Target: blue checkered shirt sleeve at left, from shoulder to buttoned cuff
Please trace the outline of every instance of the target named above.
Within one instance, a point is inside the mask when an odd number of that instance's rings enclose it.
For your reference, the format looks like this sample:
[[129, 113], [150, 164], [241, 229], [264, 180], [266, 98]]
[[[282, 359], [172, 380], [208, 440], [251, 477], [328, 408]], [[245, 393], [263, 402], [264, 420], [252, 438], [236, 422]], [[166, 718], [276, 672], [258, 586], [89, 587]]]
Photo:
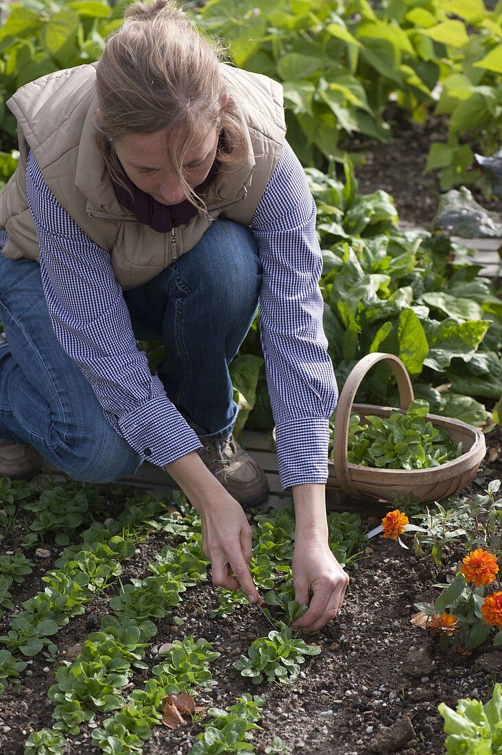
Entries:
[[29, 153], [29, 208], [54, 332], [82, 370], [112, 427], [147, 461], [165, 467], [202, 444], [137, 348], [109, 253], [77, 226]]

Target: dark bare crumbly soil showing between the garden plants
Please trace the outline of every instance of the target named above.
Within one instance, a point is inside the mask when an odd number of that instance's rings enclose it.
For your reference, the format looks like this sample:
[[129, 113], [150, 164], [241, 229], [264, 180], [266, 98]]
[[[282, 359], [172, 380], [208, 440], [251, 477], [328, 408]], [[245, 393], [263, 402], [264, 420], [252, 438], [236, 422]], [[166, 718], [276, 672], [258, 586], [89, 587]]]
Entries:
[[[439, 187], [433, 176], [423, 177], [423, 165], [432, 138], [442, 124], [424, 128], [402, 125], [400, 136], [388, 145], [369, 144], [368, 162], [356, 169], [359, 190], [371, 193], [377, 188], [395, 199], [402, 220], [429, 227], [436, 210]], [[444, 135], [444, 134], [443, 134]], [[357, 145], [353, 144], [352, 149]], [[502, 432], [499, 428], [486, 436], [488, 455], [468, 492], [482, 492], [491, 479], [502, 478]], [[497, 458], [495, 458], [497, 457]], [[115, 509], [117, 501], [114, 503]], [[380, 523], [385, 507], [376, 507], [373, 516], [362, 511], [368, 529]], [[109, 516], [114, 516], [111, 511]], [[153, 553], [167, 542], [166, 536], [137, 545], [137, 554], [123, 563], [123, 580], [146, 576], [146, 565]], [[2, 549], [13, 544], [5, 541]], [[14, 605], [42, 590], [43, 573], [51, 569], [60, 547], [47, 542], [51, 558], [38, 560], [38, 572], [14, 591]], [[32, 553], [28, 553], [35, 560]], [[445, 564], [443, 572], [454, 572], [457, 559]], [[365, 755], [365, 753], [406, 752], [408, 755], [444, 753], [445, 735], [439, 702], [454, 706], [462, 697], [476, 696], [487, 701], [494, 682], [500, 680], [502, 651], [489, 643], [464, 657], [439, 651], [435, 639], [411, 624], [417, 610], [414, 602], [433, 600], [437, 591], [437, 569], [430, 558], [417, 558], [396, 541], [377, 537], [368, 544], [365, 556], [347, 569], [350, 588], [337, 620], [307, 642], [317, 643], [322, 652], [307, 659], [295, 683], [279, 688], [266, 683], [254, 686], [233, 669], [233, 661], [257, 636], [269, 631], [263, 616], [252, 606], [224, 620], [207, 618], [208, 607], [216, 602], [210, 584], [183, 593], [174, 614], [183, 619], [180, 627], [172, 616], [159, 621], [156, 646], [191, 633], [215, 643], [220, 658], [211, 665], [217, 687], [202, 693], [197, 704], [224, 707], [244, 692], [265, 695], [262, 732], [254, 735], [257, 752], [263, 753], [273, 736], [280, 736], [291, 753], [318, 755]], [[498, 587], [497, 589], [500, 589]], [[109, 596], [108, 596], [109, 597]], [[107, 612], [108, 598], [101, 596], [72, 619], [57, 635], [59, 659], [72, 658], [101, 615]], [[0, 621], [0, 633], [8, 629], [8, 617]], [[146, 656], [150, 666], [158, 661]], [[51, 728], [51, 703], [48, 687], [54, 683], [54, 665], [36, 656], [21, 674], [21, 682], [9, 686], [0, 697], [0, 753], [21, 755], [23, 742], [32, 729]], [[142, 688], [148, 672], [136, 672], [132, 684]], [[131, 689], [131, 688], [130, 688]], [[97, 715], [97, 725], [102, 718]], [[153, 737], [144, 747], [146, 755], [181, 755], [190, 747], [190, 738], [200, 730], [199, 723], [181, 726], [171, 732], [154, 727]], [[91, 755], [91, 727], [82, 726], [81, 734], [69, 738], [65, 753]]]

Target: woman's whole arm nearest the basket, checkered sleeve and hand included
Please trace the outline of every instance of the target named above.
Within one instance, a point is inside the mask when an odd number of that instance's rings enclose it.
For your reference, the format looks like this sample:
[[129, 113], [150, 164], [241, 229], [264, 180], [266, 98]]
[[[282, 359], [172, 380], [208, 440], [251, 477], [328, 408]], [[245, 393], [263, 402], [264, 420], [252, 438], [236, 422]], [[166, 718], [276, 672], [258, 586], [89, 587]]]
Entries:
[[313, 631], [340, 610], [349, 578], [328, 545], [328, 418], [337, 386], [322, 328], [316, 208], [287, 143], [251, 227], [263, 262], [260, 335], [279, 474], [294, 498], [294, 587], [297, 600], [310, 604], [294, 626]]

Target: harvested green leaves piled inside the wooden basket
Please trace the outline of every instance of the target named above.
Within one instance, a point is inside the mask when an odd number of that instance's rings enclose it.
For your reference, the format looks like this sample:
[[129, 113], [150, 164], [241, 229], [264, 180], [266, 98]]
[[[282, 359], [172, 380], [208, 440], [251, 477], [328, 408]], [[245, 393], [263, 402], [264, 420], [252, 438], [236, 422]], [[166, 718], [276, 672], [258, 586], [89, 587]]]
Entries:
[[453, 461], [462, 444], [451, 440], [445, 427], [427, 420], [429, 404], [417, 399], [406, 414], [392, 411], [388, 418], [350, 414], [347, 461], [362, 467], [393, 470], [423, 470]]

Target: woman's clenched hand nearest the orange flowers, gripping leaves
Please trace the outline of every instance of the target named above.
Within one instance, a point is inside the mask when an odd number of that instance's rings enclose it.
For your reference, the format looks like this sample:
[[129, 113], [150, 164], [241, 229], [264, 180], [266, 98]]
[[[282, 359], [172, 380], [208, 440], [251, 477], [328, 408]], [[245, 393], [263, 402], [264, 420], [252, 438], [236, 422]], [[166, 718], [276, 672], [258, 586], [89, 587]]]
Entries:
[[295, 599], [309, 606], [309, 610], [294, 621], [292, 627], [308, 632], [322, 629], [340, 611], [349, 584], [349, 576], [331, 553], [327, 542], [297, 541], [293, 579]]

